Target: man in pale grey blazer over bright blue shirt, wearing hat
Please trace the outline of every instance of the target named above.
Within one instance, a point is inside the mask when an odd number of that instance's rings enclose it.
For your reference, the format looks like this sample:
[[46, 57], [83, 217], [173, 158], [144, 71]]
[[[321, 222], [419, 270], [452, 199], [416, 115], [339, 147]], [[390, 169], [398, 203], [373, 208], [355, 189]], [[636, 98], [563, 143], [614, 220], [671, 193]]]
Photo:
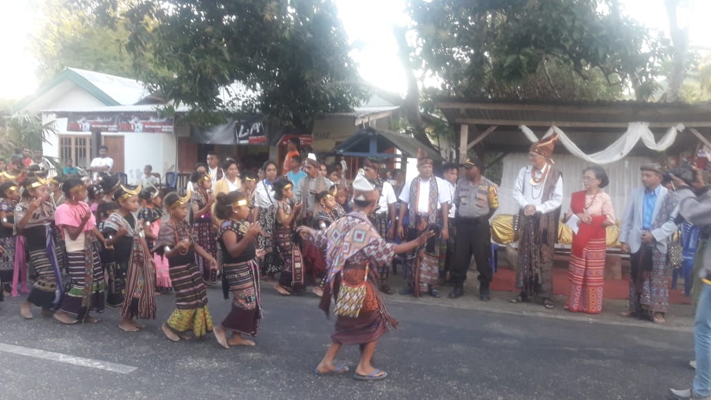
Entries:
[[630, 253], [631, 270], [629, 310], [622, 315], [664, 323], [669, 303], [667, 243], [677, 229], [678, 201], [675, 192], [661, 185], [658, 163], [640, 170], [642, 188], [630, 193], [620, 227], [621, 250]]

